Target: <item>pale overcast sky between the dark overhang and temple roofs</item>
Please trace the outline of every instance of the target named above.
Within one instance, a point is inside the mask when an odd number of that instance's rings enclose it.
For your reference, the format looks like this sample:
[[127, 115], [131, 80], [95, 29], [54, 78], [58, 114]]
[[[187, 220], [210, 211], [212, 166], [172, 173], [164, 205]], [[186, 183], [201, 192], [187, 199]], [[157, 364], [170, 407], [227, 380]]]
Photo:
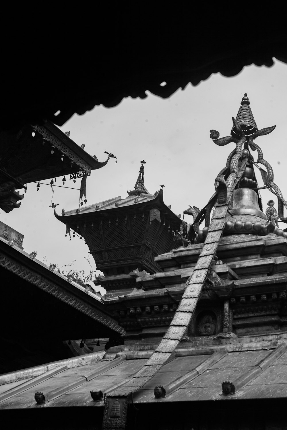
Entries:
[[[117, 164], [110, 159], [107, 166], [87, 178], [87, 205], [127, 197], [144, 159], [145, 186], [150, 193], [165, 184], [164, 202], [172, 205], [173, 212], [183, 214], [188, 205], [201, 209], [214, 193], [214, 180], [235, 146], [218, 147], [209, 137], [210, 129], [218, 130], [220, 137], [230, 135], [231, 117], [236, 117], [244, 92], [259, 129], [277, 124], [274, 132], [259, 137], [256, 143], [272, 165], [274, 181], [286, 199], [286, 73], [287, 65], [279, 61], [272, 68], [249, 66], [235, 77], [215, 74], [196, 87], [188, 85], [169, 99], [147, 92], [143, 100], [127, 98], [113, 108], [97, 106], [84, 115], [74, 115], [60, 127], [62, 131], [70, 130], [71, 139], [86, 144], [85, 151], [96, 154], [99, 161], [106, 160], [105, 150], [117, 156]], [[259, 171], [255, 173], [262, 184]], [[62, 185], [61, 179], [57, 178], [56, 184]], [[68, 176], [66, 179], [66, 186], [80, 187], [80, 179], [76, 184]], [[37, 251], [39, 260], [46, 256], [59, 267], [76, 260], [72, 268], [88, 272], [84, 259], [88, 247], [77, 237], [71, 242], [65, 237], [65, 224], [57, 221], [49, 208], [51, 197], [50, 187], [42, 185], [37, 191], [36, 184], [28, 184], [21, 207], [9, 214], [1, 211], [0, 220], [24, 234], [25, 251]], [[263, 190], [264, 207], [270, 198], [272, 194]], [[74, 209], [79, 205], [79, 191], [55, 187], [53, 202], [59, 203], [58, 213], [62, 208]], [[186, 215], [185, 221], [192, 218]], [[92, 258], [90, 261], [93, 264]]]

